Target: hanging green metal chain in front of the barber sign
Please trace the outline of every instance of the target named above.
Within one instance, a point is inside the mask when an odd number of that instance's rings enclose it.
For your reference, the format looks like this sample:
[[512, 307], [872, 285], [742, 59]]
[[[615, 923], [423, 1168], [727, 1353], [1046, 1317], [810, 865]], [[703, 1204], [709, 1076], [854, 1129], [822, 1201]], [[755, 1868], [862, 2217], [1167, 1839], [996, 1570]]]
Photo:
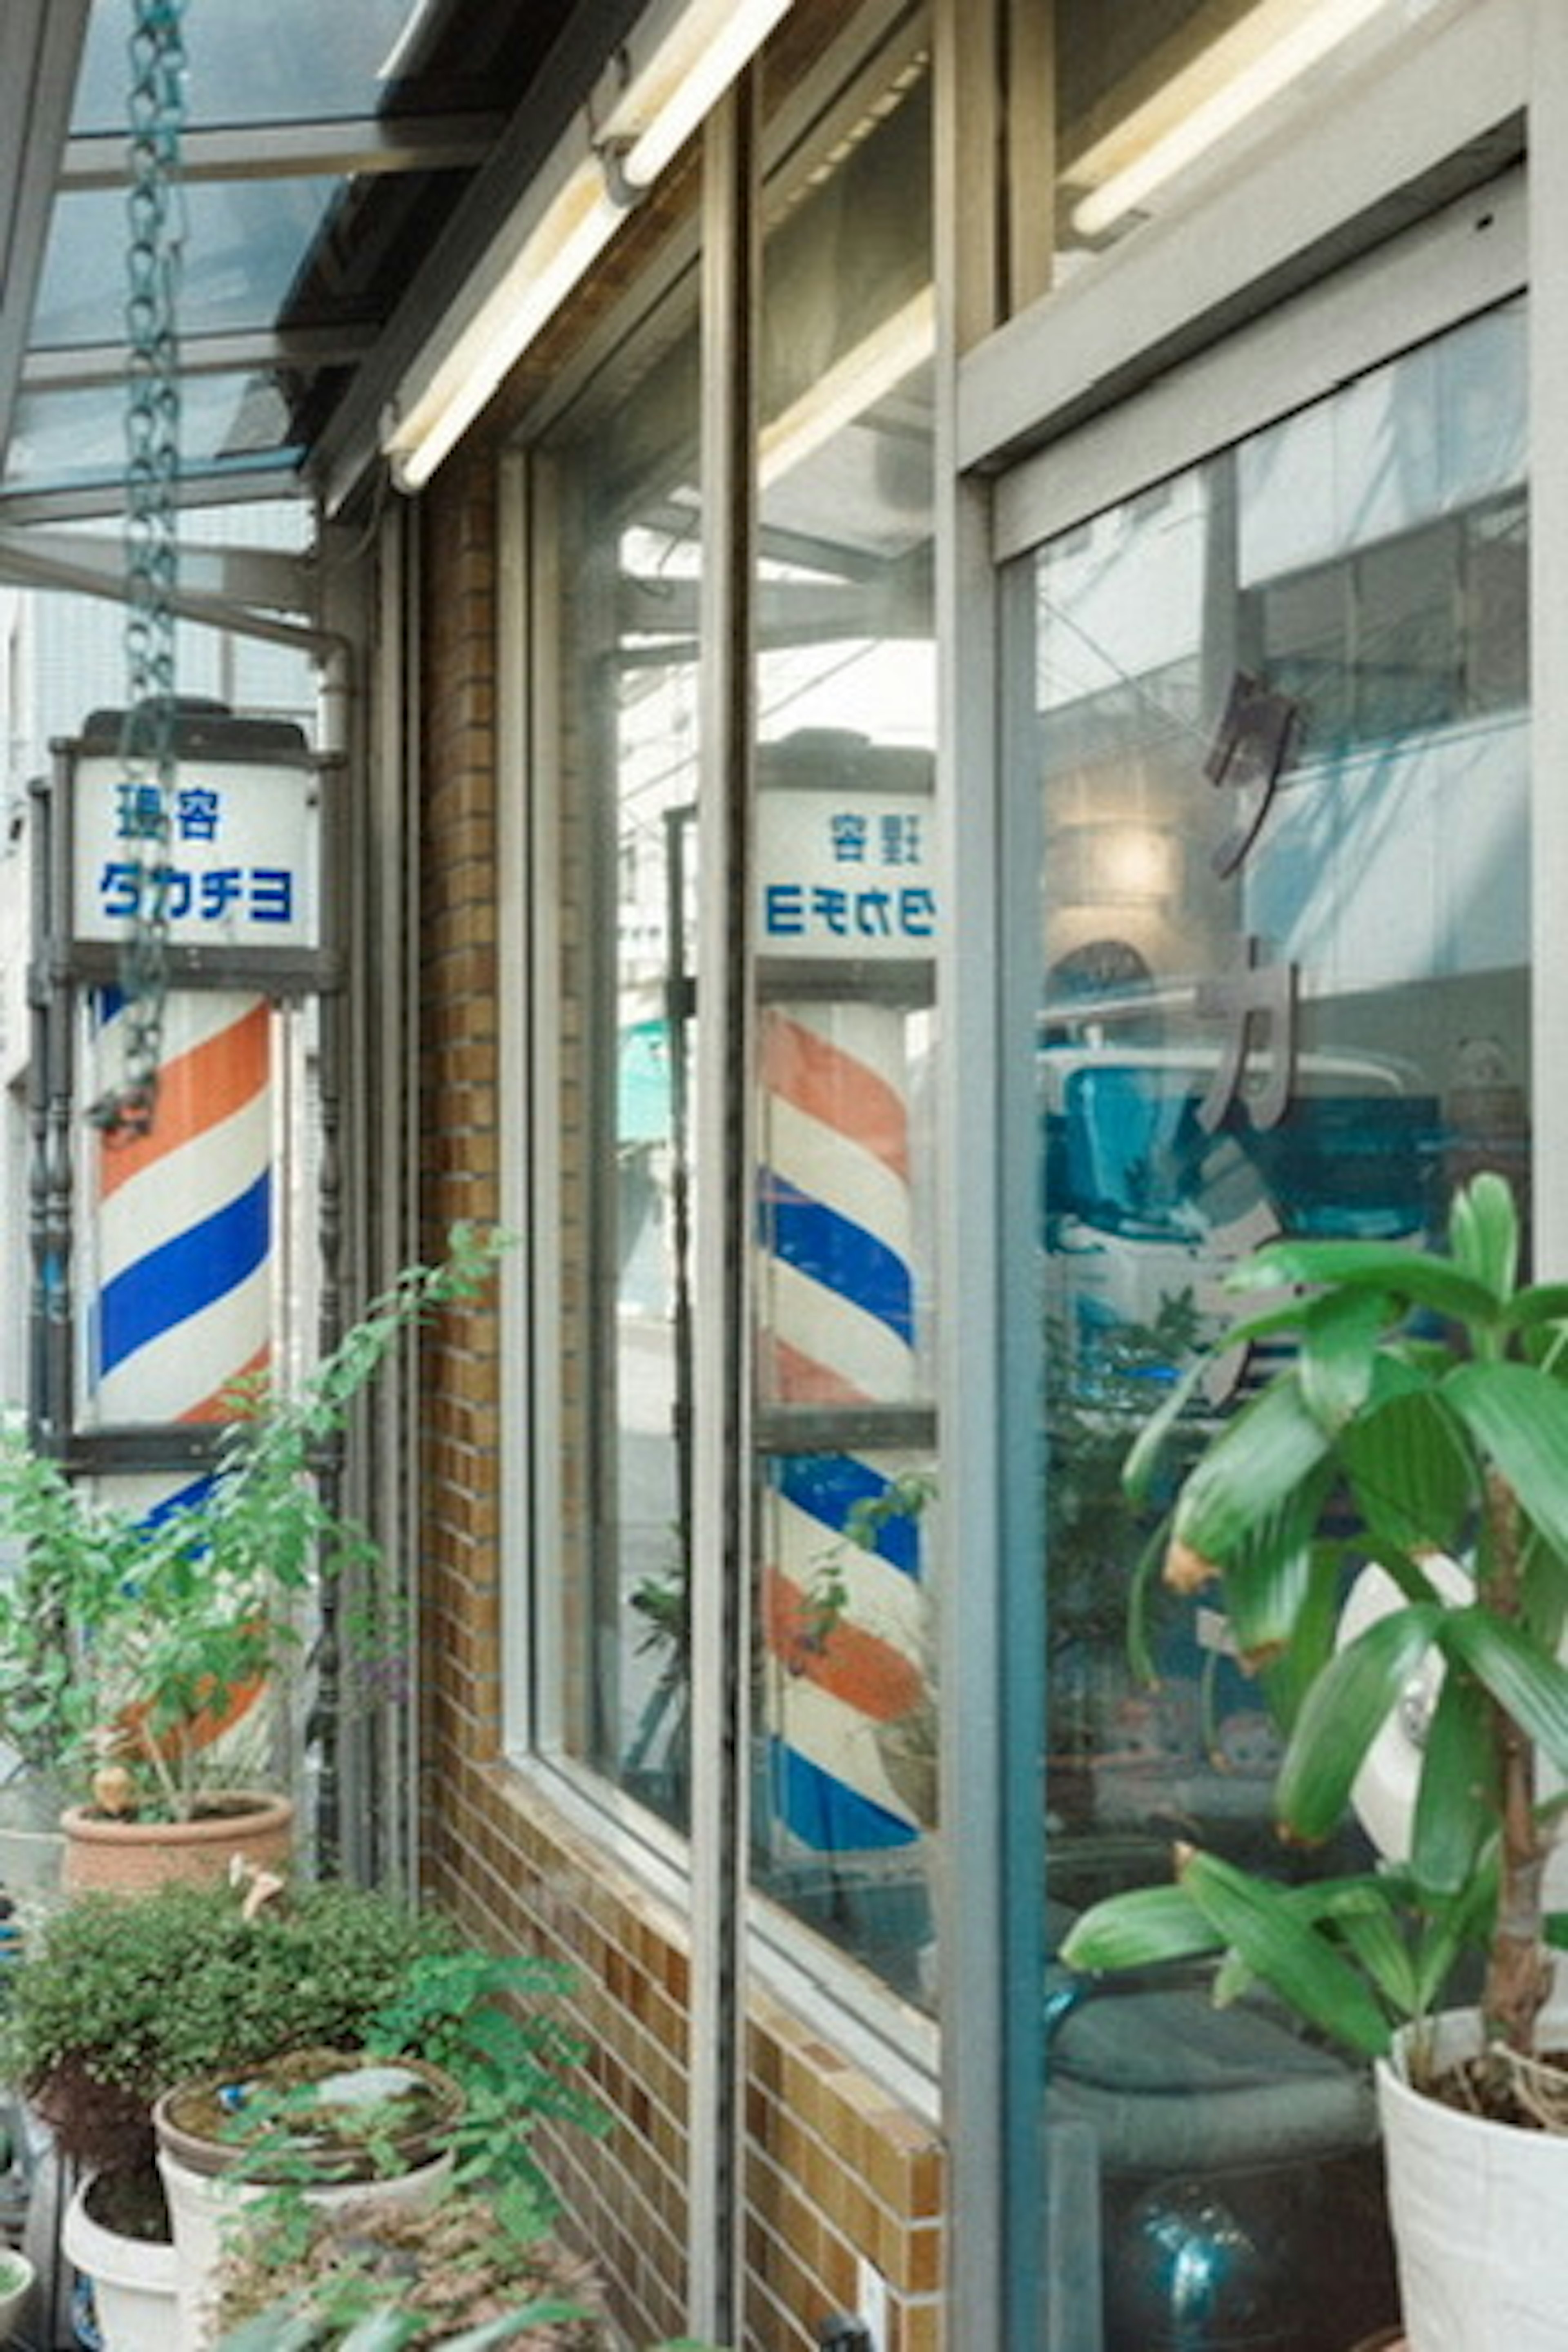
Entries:
[[132, 0], [129, 35], [129, 346], [125, 416], [125, 724], [120, 835], [136, 849], [139, 889], [120, 950], [122, 1077], [89, 1110], [110, 1136], [153, 1124], [169, 981], [169, 835], [174, 811], [179, 586], [179, 278], [183, 259], [181, 132], [186, 0]]

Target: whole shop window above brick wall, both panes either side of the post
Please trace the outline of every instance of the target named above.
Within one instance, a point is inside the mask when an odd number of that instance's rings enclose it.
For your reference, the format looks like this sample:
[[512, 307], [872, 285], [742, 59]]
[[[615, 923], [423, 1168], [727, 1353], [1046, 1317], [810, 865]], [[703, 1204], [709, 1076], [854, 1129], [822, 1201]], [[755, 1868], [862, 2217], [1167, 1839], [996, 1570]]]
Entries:
[[[755, 1103], [696, 1101], [696, 270], [545, 440], [552, 816], [536, 908], [555, 1428], [541, 1510], [564, 1755], [689, 1818], [693, 1235], [755, 1247], [752, 1875], [933, 1990], [938, 882], [929, 64], [823, 99], [762, 191]], [[825, 92], [830, 78], [823, 75]], [[715, 887], [712, 877], [703, 877]], [[717, 1138], [757, 1160], [698, 1200]]]

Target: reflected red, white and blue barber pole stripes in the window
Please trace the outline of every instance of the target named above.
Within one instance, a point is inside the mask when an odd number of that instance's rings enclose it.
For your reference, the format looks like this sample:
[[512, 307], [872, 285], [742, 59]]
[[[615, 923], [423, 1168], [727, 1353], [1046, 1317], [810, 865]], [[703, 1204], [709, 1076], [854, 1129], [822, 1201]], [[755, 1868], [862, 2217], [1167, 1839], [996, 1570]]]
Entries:
[[[771, 1007], [762, 1080], [762, 1399], [912, 1402], [905, 1016], [858, 1002]], [[919, 1835], [877, 1738], [922, 1700], [919, 1519], [905, 1510], [877, 1519], [907, 1468], [903, 1456], [863, 1451], [769, 1463], [773, 1806], [818, 1851]]]

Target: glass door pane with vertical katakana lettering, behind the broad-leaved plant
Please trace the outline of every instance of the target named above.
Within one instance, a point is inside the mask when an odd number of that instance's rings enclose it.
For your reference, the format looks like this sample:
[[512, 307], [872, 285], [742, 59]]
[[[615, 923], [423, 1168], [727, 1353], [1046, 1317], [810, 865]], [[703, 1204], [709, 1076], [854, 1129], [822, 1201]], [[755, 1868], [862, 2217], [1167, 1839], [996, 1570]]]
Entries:
[[[1276, 1844], [1265, 1693], [1213, 1595], [1133, 1616], [1152, 1524], [1119, 1472], [1267, 1235], [1434, 1235], [1479, 1167], [1528, 1207], [1526, 529], [1512, 303], [1013, 581], [1058, 1929], [1164, 1879], [1173, 1839], [1281, 1875], [1399, 1842], [1389, 1752], [1342, 1846]], [[1220, 1362], [1192, 1442], [1267, 1369], [1265, 1348]], [[1284, 2314], [1305, 2279], [1314, 2343], [1387, 2319], [1366, 2084], [1206, 1990], [1086, 1990], [1053, 1978], [1048, 2122], [1058, 2161], [1077, 2150], [1100, 2180], [1107, 2352], [1175, 2340], [1182, 2265], [1220, 2281], [1220, 2333], [1244, 2314], [1248, 2340], [1302, 2340]]]

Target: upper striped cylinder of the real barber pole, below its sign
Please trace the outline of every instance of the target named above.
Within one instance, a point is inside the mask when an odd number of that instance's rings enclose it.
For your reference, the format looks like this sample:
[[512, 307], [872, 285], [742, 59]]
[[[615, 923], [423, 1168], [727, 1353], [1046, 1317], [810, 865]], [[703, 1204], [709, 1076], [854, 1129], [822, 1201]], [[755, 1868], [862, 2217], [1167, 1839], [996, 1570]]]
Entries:
[[[99, 1037], [113, 1051], [113, 1011]], [[167, 1000], [150, 1134], [99, 1148], [89, 1414], [221, 1421], [273, 1338], [273, 1077], [263, 997]]]

